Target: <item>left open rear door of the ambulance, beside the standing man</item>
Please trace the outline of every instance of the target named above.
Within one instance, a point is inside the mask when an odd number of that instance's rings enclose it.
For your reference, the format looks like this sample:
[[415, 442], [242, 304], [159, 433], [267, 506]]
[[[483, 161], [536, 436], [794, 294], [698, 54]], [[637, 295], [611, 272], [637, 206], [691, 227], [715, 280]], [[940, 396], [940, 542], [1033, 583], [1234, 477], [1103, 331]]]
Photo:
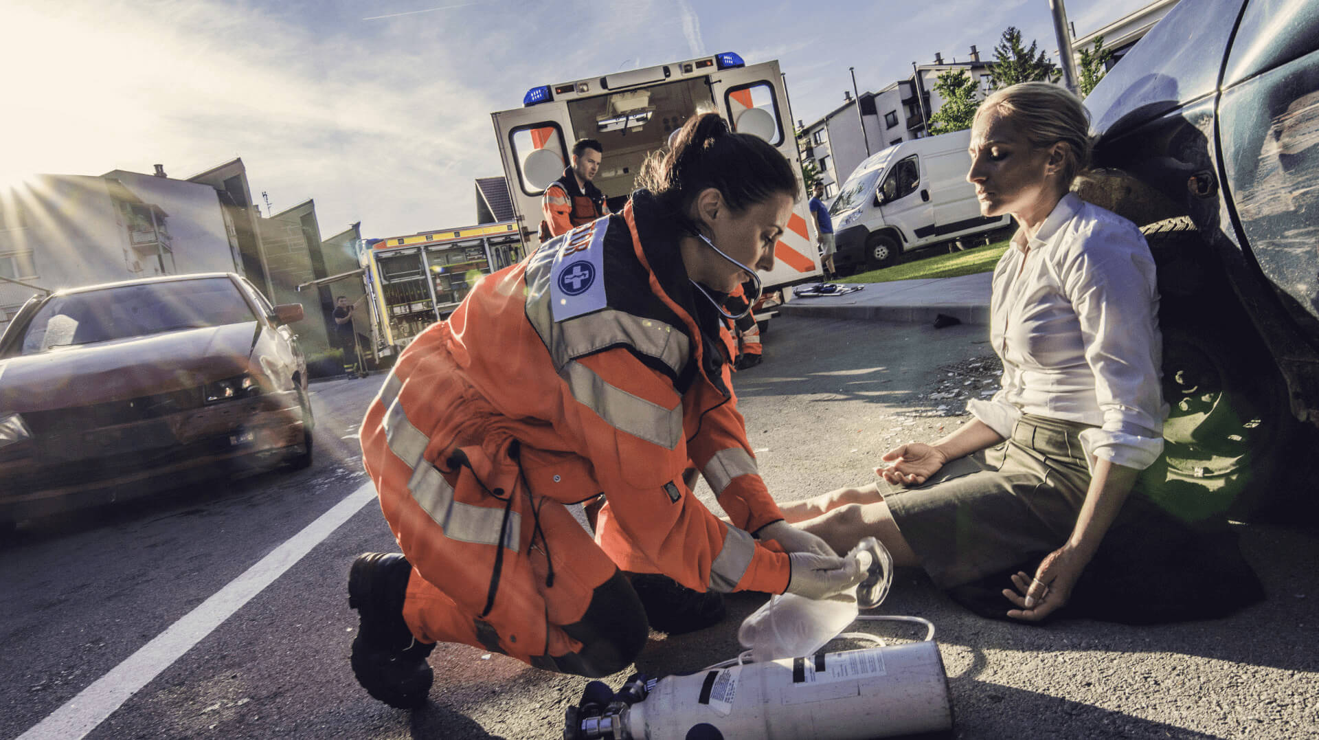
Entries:
[[538, 103], [491, 113], [513, 215], [526, 253], [539, 248], [541, 195], [568, 166], [572, 124], [563, 102]]

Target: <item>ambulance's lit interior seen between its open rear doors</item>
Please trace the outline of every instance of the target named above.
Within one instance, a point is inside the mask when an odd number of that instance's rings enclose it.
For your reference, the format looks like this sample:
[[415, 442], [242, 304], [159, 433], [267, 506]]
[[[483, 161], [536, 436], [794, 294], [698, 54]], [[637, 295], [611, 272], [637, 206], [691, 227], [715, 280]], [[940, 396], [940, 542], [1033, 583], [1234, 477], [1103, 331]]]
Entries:
[[637, 173], [650, 152], [666, 146], [669, 135], [698, 111], [714, 109], [704, 78], [568, 102], [572, 131], [604, 146], [595, 186], [611, 199], [611, 207], [615, 198], [621, 200], [636, 190]]

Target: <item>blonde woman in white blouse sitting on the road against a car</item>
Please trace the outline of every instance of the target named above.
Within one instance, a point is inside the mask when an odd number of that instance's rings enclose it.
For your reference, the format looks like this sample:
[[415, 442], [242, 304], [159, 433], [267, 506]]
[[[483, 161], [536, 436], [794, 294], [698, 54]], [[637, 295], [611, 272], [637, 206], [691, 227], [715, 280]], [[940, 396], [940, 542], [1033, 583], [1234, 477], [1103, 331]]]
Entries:
[[[1053, 84], [985, 99], [967, 179], [981, 214], [1020, 226], [993, 274], [1002, 388], [936, 443], [885, 454], [878, 484], [783, 507], [835, 547], [876, 536], [942, 588], [1001, 574], [995, 613], [1021, 620], [1068, 601], [1163, 447], [1154, 261], [1136, 226], [1068, 193], [1087, 132], [1080, 100]], [[950, 464], [991, 447], [988, 464]]]

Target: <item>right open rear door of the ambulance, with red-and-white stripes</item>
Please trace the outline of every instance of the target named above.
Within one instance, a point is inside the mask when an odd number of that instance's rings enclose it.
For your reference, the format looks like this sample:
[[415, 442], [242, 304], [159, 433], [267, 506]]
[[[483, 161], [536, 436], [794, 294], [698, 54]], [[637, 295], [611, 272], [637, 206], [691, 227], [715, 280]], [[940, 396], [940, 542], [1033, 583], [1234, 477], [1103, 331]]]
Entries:
[[[793, 165], [797, 183], [802, 182], [802, 161], [793, 135], [793, 112], [787, 107], [783, 78], [778, 62], [720, 70], [710, 77], [710, 91], [719, 112], [737, 133], [751, 133], [769, 141]], [[815, 224], [811, 219], [810, 194], [803, 193], [793, 207], [782, 239], [774, 247], [774, 269], [761, 273], [765, 292], [807, 282], [823, 274]]]

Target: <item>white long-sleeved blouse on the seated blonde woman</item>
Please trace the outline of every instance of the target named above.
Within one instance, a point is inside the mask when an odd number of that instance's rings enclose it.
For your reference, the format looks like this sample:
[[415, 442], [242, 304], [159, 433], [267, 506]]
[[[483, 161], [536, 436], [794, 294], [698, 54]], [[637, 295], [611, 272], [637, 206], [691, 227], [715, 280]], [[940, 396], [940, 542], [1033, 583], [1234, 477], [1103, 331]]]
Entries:
[[1018, 231], [993, 273], [989, 336], [1002, 388], [972, 401], [1004, 438], [1024, 414], [1096, 426], [1093, 458], [1137, 470], [1163, 451], [1154, 259], [1136, 226], [1068, 193], [1033, 239]]

